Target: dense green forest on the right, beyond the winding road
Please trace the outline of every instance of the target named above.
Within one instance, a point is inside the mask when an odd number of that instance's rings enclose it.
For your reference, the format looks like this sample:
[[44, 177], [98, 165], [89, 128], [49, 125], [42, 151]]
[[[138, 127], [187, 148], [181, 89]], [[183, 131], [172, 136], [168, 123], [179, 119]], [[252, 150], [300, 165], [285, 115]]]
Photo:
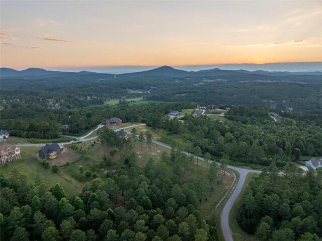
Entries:
[[[181, 148], [197, 147], [202, 153], [209, 152], [219, 158], [225, 156], [234, 165], [269, 166], [274, 162], [282, 167], [301, 155], [322, 154], [320, 119], [304, 122], [285, 118], [275, 123], [267, 110], [244, 106], [232, 107], [227, 118], [230, 121], [220, 122], [207, 116], [188, 115], [182, 118], [182, 123], [177, 118], [170, 120], [155, 115], [147, 125], [163, 129], [174, 138], [180, 136], [184, 143], [179, 144]], [[165, 137], [163, 141], [168, 139]], [[173, 141], [168, 143], [174, 144]]]

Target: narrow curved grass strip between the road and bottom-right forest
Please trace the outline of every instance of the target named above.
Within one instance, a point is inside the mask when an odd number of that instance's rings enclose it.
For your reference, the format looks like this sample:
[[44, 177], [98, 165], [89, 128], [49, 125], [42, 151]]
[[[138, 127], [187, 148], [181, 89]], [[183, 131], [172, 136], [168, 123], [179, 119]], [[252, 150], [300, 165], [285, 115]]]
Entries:
[[238, 196], [236, 202], [232, 206], [230, 213], [229, 213], [229, 226], [232, 232], [233, 240], [240, 240], [240, 241], [252, 241], [256, 240], [255, 235], [249, 234], [241, 229], [237, 223], [237, 213], [238, 208], [243, 203], [243, 193], [245, 192], [245, 187], [248, 186], [250, 181], [257, 176], [258, 174], [250, 173], [247, 178], [243, 190], [241, 190], [240, 195]]

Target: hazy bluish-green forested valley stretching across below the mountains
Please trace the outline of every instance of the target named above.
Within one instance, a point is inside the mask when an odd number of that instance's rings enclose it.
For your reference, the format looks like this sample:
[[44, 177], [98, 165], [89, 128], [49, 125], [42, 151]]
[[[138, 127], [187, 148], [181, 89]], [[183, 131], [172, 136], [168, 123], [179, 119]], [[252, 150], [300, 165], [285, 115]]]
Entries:
[[[140, 97], [147, 100], [196, 102], [277, 107], [285, 110], [321, 110], [321, 75], [249, 74], [241, 71], [214, 70], [200, 74], [51, 74], [2, 77], [0, 105], [49, 107], [68, 110], [104, 101]], [[180, 71], [180, 70], [178, 70]], [[201, 72], [200, 72], [201, 73]], [[19, 100], [19, 101], [18, 101]]]

